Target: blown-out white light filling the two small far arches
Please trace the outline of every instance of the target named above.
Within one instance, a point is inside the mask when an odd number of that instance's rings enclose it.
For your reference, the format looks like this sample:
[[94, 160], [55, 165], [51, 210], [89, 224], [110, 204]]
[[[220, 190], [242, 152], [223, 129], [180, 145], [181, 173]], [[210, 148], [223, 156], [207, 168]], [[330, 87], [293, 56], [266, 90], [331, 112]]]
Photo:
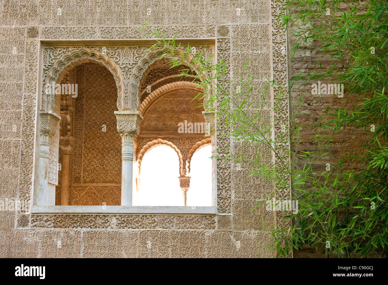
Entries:
[[[194, 153], [191, 159], [187, 206], [211, 206], [211, 146]], [[133, 191], [134, 206], [183, 206], [179, 186], [178, 155], [171, 147], [159, 145], [142, 159], [140, 189]]]

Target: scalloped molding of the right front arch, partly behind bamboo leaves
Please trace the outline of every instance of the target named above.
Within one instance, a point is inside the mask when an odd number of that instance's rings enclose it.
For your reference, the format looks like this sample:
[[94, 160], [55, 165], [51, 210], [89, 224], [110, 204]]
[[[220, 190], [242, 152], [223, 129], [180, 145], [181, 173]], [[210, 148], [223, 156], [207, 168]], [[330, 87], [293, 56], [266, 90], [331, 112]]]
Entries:
[[[132, 75], [130, 76], [130, 90], [133, 90], [132, 94], [132, 106], [133, 109], [137, 109], [139, 107], [139, 101], [140, 101], [140, 88], [141, 88], [141, 82], [143, 81], [143, 78], [149, 73], [149, 71], [152, 69], [153, 66], [156, 64], [165, 64], [170, 61], [170, 59], [178, 59], [180, 55], [183, 54], [182, 50], [176, 49], [176, 55], [169, 55], [168, 57], [164, 57], [163, 59], [160, 59], [162, 54], [162, 50], [153, 50], [146, 54], [144, 57], [142, 57], [138, 64], [133, 68]], [[192, 57], [188, 56], [185, 62], [187, 64], [192, 64], [191, 62]], [[185, 63], [184, 62], [184, 63]], [[186, 65], [187, 65], [186, 64]], [[151, 67], [151, 68], [150, 68]], [[196, 73], [198, 71], [196, 70]], [[124, 106], [126, 107], [126, 106]]]

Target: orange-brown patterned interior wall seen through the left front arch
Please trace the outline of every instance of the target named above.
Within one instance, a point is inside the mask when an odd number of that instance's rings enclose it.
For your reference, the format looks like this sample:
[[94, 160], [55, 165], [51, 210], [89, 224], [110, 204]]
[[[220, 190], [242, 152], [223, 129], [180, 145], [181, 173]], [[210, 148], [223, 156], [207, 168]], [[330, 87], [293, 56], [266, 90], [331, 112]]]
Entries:
[[[117, 206], [121, 202], [121, 138], [113, 113], [116, 84], [111, 73], [99, 64], [77, 66], [76, 74], [75, 167], [69, 205]], [[61, 205], [59, 199], [56, 204]]]

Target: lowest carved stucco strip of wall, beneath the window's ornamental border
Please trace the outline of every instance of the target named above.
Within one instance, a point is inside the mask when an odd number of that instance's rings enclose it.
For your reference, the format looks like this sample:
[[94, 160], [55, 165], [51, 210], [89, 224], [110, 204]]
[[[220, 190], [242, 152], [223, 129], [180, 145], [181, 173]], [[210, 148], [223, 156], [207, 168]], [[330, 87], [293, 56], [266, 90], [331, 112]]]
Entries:
[[[10, 238], [7, 235], [6, 238]], [[265, 234], [206, 230], [14, 230], [10, 257], [271, 257], [258, 247]], [[58, 247], [58, 242], [61, 247]], [[41, 247], [40, 244], [45, 246]], [[38, 250], [39, 249], [39, 250]]]

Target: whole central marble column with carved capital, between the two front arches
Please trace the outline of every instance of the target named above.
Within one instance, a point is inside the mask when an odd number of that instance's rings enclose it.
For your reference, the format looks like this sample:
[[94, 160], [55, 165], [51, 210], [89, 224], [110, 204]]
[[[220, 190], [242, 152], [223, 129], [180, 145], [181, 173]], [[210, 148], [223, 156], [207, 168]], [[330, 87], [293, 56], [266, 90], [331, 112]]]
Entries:
[[143, 116], [138, 111], [115, 111], [121, 135], [121, 206], [132, 206], [133, 143]]

